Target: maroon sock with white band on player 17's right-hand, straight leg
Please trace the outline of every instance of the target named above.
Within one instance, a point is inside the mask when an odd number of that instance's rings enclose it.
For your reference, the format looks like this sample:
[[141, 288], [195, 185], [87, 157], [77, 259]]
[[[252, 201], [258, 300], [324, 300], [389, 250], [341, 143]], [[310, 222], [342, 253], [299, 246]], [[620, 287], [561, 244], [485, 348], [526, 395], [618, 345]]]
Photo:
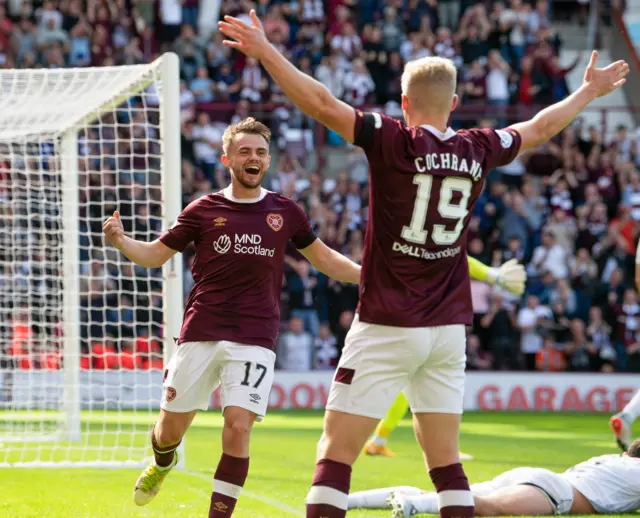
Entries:
[[209, 518], [231, 516], [249, 473], [249, 457], [222, 454], [213, 479]]

